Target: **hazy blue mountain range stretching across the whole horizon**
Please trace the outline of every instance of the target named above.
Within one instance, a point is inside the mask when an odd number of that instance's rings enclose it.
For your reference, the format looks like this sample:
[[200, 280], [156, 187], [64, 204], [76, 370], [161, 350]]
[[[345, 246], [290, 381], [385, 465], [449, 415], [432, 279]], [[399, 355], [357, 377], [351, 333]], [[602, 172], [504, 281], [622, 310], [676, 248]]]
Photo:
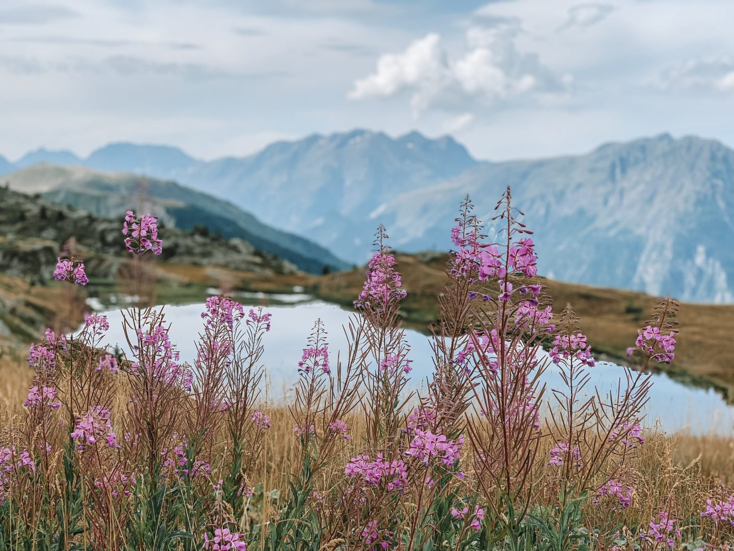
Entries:
[[446, 250], [462, 198], [489, 220], [510, 185], [544, 275], [734, 302], [734, 151], [715, 140], [661, 134], [582, 155], [481, 162], [448, 136], [355, 130], [213, 161], [126, 143], [69, 155], [34, 151], [4, 170], [46, 160], [175, 180], [349, 262], [368, 258], [379, 223], [394, 248]]

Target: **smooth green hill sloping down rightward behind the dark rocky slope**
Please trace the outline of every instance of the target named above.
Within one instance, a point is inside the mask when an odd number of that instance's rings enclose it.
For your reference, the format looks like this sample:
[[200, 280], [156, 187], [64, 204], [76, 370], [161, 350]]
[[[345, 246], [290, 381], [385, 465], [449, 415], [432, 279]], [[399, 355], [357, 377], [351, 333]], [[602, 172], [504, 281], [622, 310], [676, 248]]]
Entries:
[[[154, 212], [164, 223], [181, 229], [208, 226], [222, 237], [241, 237], [259, 251], [293, 262], [301, 270], [321, 273], [324, 266], [340, 270], [346, 264], [326, 249], [293, 234], [261, 223], [227, 201], [183, 187], [174, 181], [146, 178], [127, 173], [103, 173], [84, 167], [48, 164], [7, 174], [0, 179], [12, 190], [38, 193], [61, 204], [94, 215], [117, 217], [127, 209]], [[142, 206], [141, 206], [142, 201]]]

